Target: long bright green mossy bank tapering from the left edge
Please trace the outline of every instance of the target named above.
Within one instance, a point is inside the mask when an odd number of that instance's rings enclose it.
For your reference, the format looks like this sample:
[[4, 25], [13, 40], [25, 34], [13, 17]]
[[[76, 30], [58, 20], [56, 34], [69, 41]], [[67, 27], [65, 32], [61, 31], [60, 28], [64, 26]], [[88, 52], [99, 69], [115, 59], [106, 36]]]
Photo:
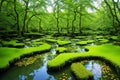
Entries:
[[19, 59], [23, 55], [29, 55], [34, 52], [42, 52], [49, 50], [51, 45], [43, 44], [39, 47], [30, 47], [30, 48], [8, 48], [0, 47], [0, 69], [6, 68], [9, 66], [9, 62]]

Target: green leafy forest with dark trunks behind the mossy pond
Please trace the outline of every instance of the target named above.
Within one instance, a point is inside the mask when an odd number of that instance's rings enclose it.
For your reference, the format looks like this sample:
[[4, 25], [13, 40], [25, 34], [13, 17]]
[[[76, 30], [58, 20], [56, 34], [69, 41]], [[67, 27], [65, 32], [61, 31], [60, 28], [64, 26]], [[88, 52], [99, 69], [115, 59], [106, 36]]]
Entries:
[[120, 1], [1, 0], [0, 32], [119, 35]]

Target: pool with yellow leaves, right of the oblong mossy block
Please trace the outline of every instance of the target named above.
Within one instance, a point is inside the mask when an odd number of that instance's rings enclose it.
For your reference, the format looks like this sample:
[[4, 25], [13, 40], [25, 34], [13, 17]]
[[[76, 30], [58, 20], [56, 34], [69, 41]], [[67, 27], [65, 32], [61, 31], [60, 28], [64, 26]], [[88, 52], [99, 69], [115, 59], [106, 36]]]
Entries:
[[92, 72], [92, 74], [94, 75], [94, 80], [101, 80], [101, 79], [111, 80], [111, 78], [114, 78], [115, 80], [119, 80], [116, 73], [114, 73], [114, 71], [112, 71], [112, 69], [105, 63], [91, 60], [91, 61], [83, 61], [83, 64], [90, 72]]

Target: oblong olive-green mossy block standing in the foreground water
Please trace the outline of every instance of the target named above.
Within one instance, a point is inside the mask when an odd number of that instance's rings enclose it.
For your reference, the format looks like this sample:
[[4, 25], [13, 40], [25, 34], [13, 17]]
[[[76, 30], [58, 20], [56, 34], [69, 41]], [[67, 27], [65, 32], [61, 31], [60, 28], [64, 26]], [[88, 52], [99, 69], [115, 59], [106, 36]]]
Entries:
[[89, 80], [93, 78], [93, 74], [81, 63], [73, 63], [71, 65], [71, 70], [78, 80]]

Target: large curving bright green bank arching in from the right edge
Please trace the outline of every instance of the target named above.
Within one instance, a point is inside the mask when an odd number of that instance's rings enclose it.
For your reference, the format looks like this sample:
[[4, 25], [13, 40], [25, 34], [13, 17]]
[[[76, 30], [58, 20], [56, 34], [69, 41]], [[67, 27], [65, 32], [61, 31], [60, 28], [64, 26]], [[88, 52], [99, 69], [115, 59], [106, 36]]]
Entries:
[[47, 63], [48, 68], [59, 68], [64, 66], [68, 61], [74, 60], [81, 57], [104, 57], [111, 61], [113, 64], [120, 67], [120, 46], [112, 44], [103, 44], [99, 46], [86, 46], [89, 49], [88, 52], [83, 53], [62, 53], [50, 60]]

